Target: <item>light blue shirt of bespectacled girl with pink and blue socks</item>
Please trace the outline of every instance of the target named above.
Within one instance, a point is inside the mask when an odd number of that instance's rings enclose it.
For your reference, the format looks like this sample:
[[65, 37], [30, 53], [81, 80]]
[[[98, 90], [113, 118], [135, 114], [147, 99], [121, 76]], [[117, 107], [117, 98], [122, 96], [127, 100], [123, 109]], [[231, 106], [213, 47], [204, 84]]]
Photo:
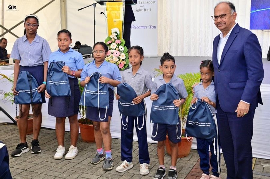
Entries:
[[[95, 60], [86, 64], [81, 73], [81, 81], [84, 81], [86, 77], [90, 77], [96, 71], [101, 73], [103, 77], [121, 82], [122, 78], [118, 67], [113, 63], [107, 62], [106, 60], [104, 60], [99, 67], [96, 66]], [[114, 90], [114, 86], [110, 85], [109, 83], [107, 83], [107, 87]]]

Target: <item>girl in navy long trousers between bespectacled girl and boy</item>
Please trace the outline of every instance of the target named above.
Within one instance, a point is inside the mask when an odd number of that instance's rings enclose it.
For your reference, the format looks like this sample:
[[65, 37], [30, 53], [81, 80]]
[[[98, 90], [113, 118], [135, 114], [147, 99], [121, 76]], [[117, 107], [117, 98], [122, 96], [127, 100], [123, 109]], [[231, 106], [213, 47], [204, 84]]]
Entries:
[[[128, 83], [137, 97], [133, 99], [134, 104], [139, 104], [144, 98], [151, 95], [153, 86], [151, 74], [143, 69], [143, 48], [140, 46], [133, 46], [128, 50], [129, 62], [132, 68], [125, 70], [122, 77], [122, 82]], [[116, 94], [116, 100], [120, 96]], [[125, 116], [122, 114], [122, 118]], [[122, 164], [116, 167], [117, 172], [125, 172], [133, 167], [132, 164], [132, 142], [133, 142], [133, 128], [135, 124], [138, 143], [139, 143], [139, 161], [140, 161], [140, 175], [147, 175], [149, 173], [149, 152], [147, 144], [146, 133], [146, 118], [145, 116], [132, 117], [127, 116], [127, 123], [123, 124], [121, 120], [121, 159]], [[124, 129], [124, 126], [126, 129]], [[143, 126], [143, 128], [141, 128]]]

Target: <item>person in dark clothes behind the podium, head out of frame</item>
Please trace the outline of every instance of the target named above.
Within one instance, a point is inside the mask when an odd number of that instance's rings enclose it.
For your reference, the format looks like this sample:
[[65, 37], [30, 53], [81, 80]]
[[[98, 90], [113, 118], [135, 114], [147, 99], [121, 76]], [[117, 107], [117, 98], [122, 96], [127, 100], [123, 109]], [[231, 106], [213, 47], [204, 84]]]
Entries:
[[[133, 0], [133, 2], [137, 4], [137, 0]], [[131, 23], [133, 21], [135, 21], [135, 16], [134, 16], [132, 7], [131, 5], [125, 5], [123, 39], [126, 41], [125, 46], [127, 46], [128, 49], [130, 48], [130, 31], [131, 31]]]

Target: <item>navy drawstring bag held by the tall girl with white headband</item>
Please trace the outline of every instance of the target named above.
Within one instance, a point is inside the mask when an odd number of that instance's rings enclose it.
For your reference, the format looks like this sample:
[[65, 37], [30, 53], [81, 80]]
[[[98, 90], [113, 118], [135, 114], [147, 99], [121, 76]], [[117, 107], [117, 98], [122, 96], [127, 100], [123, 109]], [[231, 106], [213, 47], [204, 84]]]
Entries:
[[41, 103], [41, 94], [38, 93], [38, 82], [28, 71], [21, 71], [17, 79], [15, 104], [35, 104]]

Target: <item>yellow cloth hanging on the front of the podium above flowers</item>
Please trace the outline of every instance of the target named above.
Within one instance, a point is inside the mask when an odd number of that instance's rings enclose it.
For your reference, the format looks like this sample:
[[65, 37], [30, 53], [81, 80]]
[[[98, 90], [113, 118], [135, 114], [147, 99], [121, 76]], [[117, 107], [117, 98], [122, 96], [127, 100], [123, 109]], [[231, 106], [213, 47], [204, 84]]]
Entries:
[[[105, 4], [105, 3], [104, 3]], [[123, 2], [106, 2], [108, 35], [111, 29], [117, 27], [120, 31], [120, 39], [123, 38]]]

